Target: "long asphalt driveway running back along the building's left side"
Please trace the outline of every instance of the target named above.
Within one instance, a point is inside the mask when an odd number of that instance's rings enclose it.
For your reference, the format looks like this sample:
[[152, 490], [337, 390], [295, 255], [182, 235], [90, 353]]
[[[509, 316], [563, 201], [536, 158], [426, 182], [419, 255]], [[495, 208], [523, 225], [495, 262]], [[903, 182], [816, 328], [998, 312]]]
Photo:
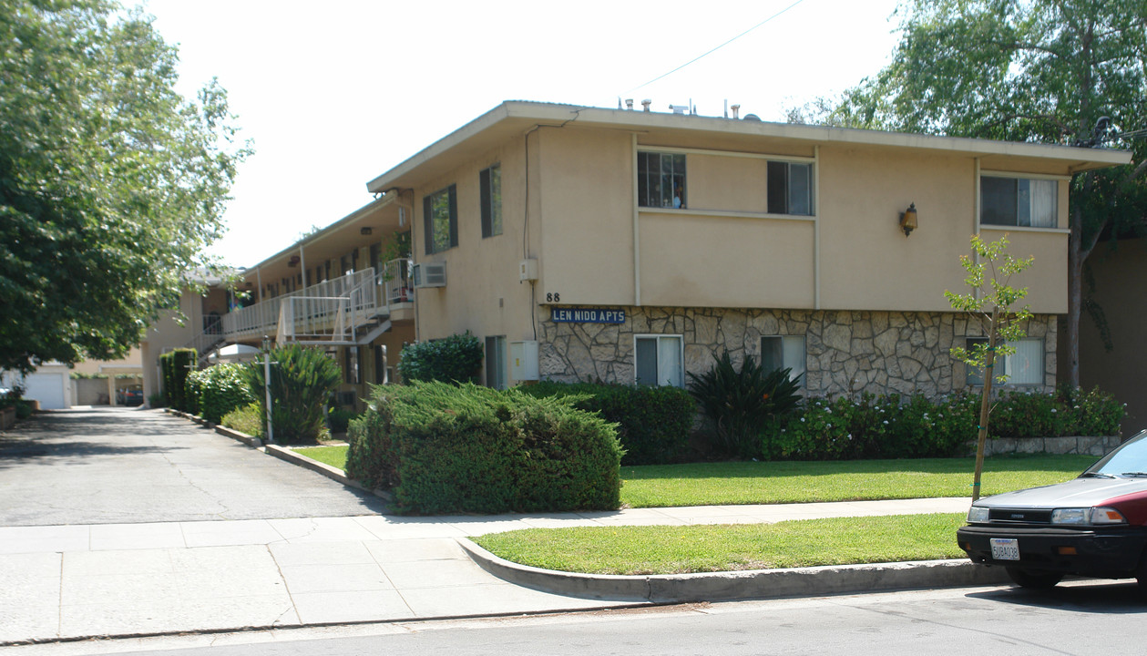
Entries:
[[155, 409], [38, 414], [0, 434], [0, 525], [338, 517], [381, 499]]

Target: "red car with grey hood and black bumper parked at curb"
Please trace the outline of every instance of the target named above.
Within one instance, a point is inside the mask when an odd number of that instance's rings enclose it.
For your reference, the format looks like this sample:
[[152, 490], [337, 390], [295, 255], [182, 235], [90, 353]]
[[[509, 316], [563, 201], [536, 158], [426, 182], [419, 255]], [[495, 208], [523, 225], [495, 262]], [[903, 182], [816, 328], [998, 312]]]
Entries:
[[957, 540], [1023, 587], [1070, 573], [1137, 578], [1147, 594], [1147, 431], [1067, 483], [980, 499]]

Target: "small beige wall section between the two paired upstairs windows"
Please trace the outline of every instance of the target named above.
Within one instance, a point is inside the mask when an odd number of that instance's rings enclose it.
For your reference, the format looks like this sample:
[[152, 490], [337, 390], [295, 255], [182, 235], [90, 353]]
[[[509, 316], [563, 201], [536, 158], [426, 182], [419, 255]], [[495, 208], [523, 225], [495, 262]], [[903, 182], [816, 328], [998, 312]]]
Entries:
[[750, 157], [689, 155], [686, 204], [690, 210], [765, 213], [767, 162]]

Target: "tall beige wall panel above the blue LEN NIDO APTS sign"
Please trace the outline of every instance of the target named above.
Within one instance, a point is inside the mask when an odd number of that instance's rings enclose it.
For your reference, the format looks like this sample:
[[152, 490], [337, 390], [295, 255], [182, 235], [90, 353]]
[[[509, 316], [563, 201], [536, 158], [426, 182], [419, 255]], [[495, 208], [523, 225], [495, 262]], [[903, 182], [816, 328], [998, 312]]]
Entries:
[[632, 304], [630, 135], [571, 128], [543, 130], [539, 134], [539, 302], [547, 294], [560, 294], [562, 304]]

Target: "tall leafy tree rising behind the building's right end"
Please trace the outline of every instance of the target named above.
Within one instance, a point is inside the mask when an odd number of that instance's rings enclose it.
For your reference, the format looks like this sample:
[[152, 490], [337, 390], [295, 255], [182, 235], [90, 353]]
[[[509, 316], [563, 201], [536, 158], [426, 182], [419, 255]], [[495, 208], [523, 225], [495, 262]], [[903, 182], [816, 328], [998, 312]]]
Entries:
[[791, 120], [1133, 149], [1131, 165], [1071, 182], [1064, 364], [1078, 385], [1080, 311], [1098, 313], [1084, 261], [1147, 217], [1147, 0], [906, 0], [897, 13], [892, 62]]

